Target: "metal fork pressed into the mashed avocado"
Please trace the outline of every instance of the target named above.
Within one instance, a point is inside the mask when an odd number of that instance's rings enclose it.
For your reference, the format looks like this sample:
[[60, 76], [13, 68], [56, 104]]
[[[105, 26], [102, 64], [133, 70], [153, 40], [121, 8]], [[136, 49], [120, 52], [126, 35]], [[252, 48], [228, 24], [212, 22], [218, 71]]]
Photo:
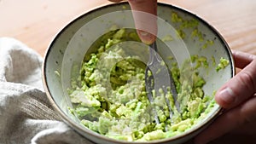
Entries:
[[[164, 94], [167, 93], [168, 89], [171, 89], [174, 102], [177, 101], [177, 90], [172, 78], [172, 73], [166, 66], [164, 60], [158, 55], [156, 42], [149, 45], [149, 60], [145, 71], [145, 85], [150, 103], [154, 102], [152, 90], [155, 91], [156, 96], [160, 96], [159, 89], [162, 89]], [[170, 119], [172, 119], [172, 107], [170, 101], [166, 98], [166, 105], [169, 108]], [[177, 104], [176, 104], [177, 105]], [[176, 106], [178, 109], [178, 106]], [[160, 124], [157, 112], [154, 109], [154, 120], [156, 124]]]

